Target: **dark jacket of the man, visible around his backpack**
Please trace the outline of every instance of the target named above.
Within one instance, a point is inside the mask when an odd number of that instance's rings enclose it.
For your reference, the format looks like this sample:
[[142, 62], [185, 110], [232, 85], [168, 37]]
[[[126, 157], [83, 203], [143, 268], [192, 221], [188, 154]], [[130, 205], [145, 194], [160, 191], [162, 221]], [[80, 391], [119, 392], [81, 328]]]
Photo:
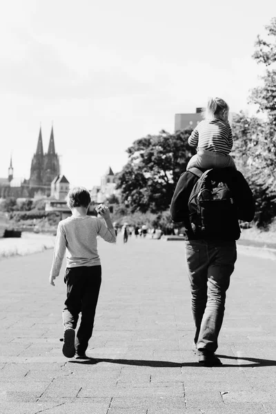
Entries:
[[[253, 200], [253, 194], [250, 190], [248, 183], [242, 172], [235, 170], [234, 168], [219, 168], [213, 170], [213, 172], [219, 176], [219, 179], [225, 182], [233, 193], [233, 198], [237, 206], [237, 226], [231, 229], [231, 232], [225, 234], [224, 240], [237, 240], [240, 236], [239, 220], [252, 221], [255, 215], [255, 202]], [[195, 237], [193, 230], [190, 226], [188, 199], [190, 193], [193, 190], [197, 180], [197, 177], [193, 172], [185, 171], [177, 182], [175, 193], [172, 196], [170, 204], [170, 217], [175, 222], [183, 221], [185, 228], [185, 239], [202, 239], [203, 237]]]

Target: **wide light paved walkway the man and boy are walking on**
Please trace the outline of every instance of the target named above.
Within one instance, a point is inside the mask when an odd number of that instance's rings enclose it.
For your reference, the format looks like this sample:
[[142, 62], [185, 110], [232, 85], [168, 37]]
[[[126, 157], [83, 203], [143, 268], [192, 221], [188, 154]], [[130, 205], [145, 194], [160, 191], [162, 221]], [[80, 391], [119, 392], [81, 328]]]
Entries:
[[275, 261], [239, 254], [218, 355], [201, 367], [184, 244], [99, 242], [103, 284], [88, 355], [61, 353], [52, 250], [0, 261], [0, 414], [276, 413]]

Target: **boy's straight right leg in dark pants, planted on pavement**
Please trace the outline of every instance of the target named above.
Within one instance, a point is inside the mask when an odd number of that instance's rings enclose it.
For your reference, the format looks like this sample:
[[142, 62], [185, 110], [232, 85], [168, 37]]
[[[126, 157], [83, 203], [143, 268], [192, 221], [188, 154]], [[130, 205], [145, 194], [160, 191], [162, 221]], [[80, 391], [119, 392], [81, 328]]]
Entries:
[[101, 287], [101, 266], [86, 267], [86, 284], [81, 298], [81, 324], [75, 341], [78, 355], [84, 355], [92, 336], [96, 306]]

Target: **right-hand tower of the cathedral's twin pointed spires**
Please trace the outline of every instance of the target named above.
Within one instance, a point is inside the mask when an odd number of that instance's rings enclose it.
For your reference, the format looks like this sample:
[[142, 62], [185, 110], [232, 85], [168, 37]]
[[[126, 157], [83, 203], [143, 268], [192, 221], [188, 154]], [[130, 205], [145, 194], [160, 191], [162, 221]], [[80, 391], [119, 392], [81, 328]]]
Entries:
[[46, 195], [50, 195], [52, 180], [59, 175], [59, 156], [55, 151], [54, 130], [52, 127], [48, 152], [43, 161], [43, 186], [47, 187]]

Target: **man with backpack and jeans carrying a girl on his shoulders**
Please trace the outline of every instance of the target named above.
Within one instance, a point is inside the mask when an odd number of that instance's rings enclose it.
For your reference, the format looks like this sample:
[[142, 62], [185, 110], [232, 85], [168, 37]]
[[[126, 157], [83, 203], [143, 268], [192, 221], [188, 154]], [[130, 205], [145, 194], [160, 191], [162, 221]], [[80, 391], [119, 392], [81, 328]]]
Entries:
[[242, 173], [234, 168], [201, 171], [201, 175], [192, 168], [181, 175], [175, 188], [170, 216], [173, 221], [184, 222], [194, 346], [200, 364], [221, 364], [215, 351], [226, 290], [237, 259], [239, 219], [251, 221], [254, 213], [252, 192]]

